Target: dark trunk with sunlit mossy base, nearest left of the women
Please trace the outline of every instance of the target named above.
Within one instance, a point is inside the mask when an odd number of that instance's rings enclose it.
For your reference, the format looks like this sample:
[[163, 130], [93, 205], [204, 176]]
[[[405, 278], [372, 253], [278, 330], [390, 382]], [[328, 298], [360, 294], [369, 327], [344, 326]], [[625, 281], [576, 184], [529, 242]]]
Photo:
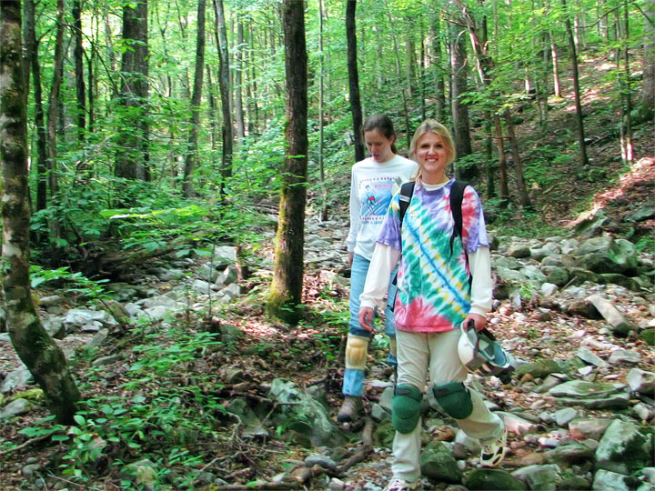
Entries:
[[277, 223], [275, 267], [268, 299], [268, 311], [291, 323], [296, 323], [300, 317], [304, 274], [307, 199], [307, 48], [304, 7], [304, 2], [284, 0], [287, 155]]

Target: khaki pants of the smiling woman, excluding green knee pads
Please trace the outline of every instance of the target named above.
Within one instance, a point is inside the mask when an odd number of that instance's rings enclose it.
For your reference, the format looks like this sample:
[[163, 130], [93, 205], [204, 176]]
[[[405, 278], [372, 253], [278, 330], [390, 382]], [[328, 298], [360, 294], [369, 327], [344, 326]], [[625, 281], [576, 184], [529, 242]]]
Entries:
[[[459, 361], [457, 346], [461, 331], [445, 333], [408, 333], [397, 331], [398, 385], [416, 386], [423, 391], [429, 370], [430, 385], [463, 382], [469, 372]], [[495, 441], [505, 431], [499, 416], [484, 405], [482, 396], [469, 388], [473, 412], [465, 419], [458, 419], [459, 426], [473, 438], [479, 438], [484, 446]], [[393, 476], [413, 482], [420, 477], [421, 421], [408, 434], [396, 432], [393, 443]]]

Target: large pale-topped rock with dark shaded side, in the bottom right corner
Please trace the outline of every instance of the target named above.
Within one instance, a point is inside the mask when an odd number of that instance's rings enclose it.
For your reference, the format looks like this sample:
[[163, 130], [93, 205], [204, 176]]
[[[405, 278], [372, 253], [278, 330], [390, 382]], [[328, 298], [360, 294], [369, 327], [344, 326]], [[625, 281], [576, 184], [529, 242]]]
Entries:
[[600, 439], [596, 466], [630, 476], [652, 465], [652, 456], [652, 434], [644, 435], [639, 426], [615, 419]]

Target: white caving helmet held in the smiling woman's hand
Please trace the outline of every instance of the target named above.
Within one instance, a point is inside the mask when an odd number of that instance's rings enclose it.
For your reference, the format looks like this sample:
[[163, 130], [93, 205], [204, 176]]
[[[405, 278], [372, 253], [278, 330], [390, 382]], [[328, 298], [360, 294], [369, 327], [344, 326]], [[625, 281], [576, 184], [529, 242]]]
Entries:
[[498, 376], [503, 382], [509, 379], [516, 367], [516, 360], [500, 346], [496, 337], [487, 329], [477, 332], [472, 322], [467, 328], [462, 326], [458, 354], [469, 372]]

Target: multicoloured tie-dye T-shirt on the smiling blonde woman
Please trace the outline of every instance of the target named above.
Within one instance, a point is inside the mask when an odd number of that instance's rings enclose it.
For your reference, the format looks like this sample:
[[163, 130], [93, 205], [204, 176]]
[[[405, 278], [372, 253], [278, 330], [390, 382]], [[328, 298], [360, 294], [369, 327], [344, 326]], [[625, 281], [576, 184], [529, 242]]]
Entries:
[[455, 221], [450, 211], [451, 179], [427, 190], [420, 182], [408, 206], [400, 233], [399, 193], [389, 205], [378, 242], [401, 251], [396, 328], [411, 332], [443, 332], [459, 327], [469, 314], [469, 270], [466, 253], [489, 246], [479, 195], [471, 186], [462, 201], [462, 240], [450, 235]]

